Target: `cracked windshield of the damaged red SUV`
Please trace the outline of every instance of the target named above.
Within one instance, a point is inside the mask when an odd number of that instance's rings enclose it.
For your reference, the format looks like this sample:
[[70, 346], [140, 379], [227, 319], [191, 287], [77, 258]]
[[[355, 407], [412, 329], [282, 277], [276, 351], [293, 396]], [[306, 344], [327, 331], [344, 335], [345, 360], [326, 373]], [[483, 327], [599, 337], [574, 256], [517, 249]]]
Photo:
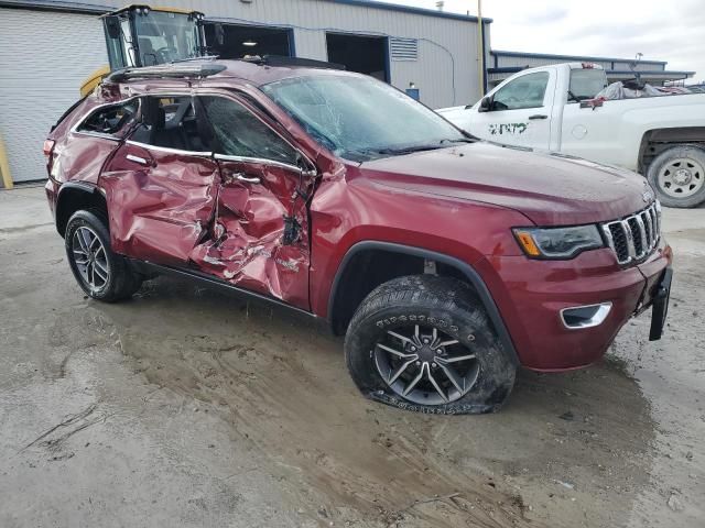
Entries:
[[262, 90], [317, 142], [356, 162], [470, 141], [432, 110], [369, 77], [297, 77]]

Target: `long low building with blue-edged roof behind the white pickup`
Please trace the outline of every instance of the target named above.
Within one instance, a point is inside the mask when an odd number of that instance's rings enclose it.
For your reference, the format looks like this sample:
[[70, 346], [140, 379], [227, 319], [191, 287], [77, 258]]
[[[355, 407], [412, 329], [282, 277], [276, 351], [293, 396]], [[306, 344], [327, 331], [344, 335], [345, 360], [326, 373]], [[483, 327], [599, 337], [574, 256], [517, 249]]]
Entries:
[[547, 55], [543, 53], [501, 52], [492, 50], [487, 65], [488, 82], [491, 87], [525, 68], [558, 63], [595, 63], [607, 73], [610, 82], [640, 78], [652, 85], [661, 86], [669, 80], [688, 79], [695, 72], [665, 69], [664, 61], [644, 61], [636, 58], [590, 57], [581, 55]]

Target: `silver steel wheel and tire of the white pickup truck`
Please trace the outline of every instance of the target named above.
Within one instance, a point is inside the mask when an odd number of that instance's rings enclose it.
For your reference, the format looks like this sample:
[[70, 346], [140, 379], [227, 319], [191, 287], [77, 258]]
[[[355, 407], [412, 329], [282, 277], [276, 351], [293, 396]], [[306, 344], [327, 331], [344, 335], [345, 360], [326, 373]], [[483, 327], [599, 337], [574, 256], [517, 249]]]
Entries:
[[647, 177], [664, 206], [698, 206], [705, 201], [705, 150], [673, 146], [651, 162]]

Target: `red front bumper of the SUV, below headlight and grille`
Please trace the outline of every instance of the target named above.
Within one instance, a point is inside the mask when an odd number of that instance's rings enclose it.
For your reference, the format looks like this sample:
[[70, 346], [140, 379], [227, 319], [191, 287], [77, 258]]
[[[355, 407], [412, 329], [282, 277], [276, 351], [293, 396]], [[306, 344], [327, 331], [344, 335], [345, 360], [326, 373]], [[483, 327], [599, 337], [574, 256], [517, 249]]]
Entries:
[[[649, 308], [671, 263], [660, 242], [643, 263], [621, 268], [609, 249], [570, 261], [488, 256], [476, 268], [505, 320], [521, 364], [536, 371], [564, 371], [599, 360], [622, 326]], [[611, 302], [597, 326], [570, 329], [561, 311]]]

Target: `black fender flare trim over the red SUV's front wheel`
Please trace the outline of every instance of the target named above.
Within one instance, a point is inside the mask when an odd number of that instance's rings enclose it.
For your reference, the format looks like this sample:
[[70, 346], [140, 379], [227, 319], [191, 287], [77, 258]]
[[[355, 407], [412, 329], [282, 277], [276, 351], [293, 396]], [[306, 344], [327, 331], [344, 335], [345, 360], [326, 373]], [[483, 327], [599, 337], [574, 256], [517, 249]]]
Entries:
[[458, 270], [463, 275], [467, 278], [469, 284], [475, 288], [477, 296], [485, 310], [487, 311], [487, 316], [489, 317], [495, 330], [497, 331], [497, 337], [502, 345], [502, 349], [508, 353], [511, 361], [514, 365], [520, 365], [519, 355], [517, 354], [517, 349], [514, 348], [514, 343], [511, 340], [511, 336], [509, 330], [507, 330], [507, 326], [505, 324], [505, 320], [502, 319], [501, 314], [499, 312], [499, 308], [497, 308], [497, 304], [492, 298], [485, 280], [480, 277], [479, 273], [467, 264], [466, 262], [460, 261], [454, 256], [449, 256], [443, 253], [437, 253], [435, 251], [424, 250], [423, 248], [415, 248], [411, 245], [402, 245], [392, 242], [379, 242], [372, 240], [366, 240], [362, 242], [357, 242], [350, 249], [348, 249], [347, 253], [340, 261], [340, 265], [335, 274], [335, 278], [333, 279], [333, 285], [330, 287], [330, 294], [328, 295], [328, 323], [333, 328], [333, 308], [336, 301], [336, 294], [340, 286], [340, 278], [349, 264], [350, 260], [361, 251], [369, 250], [380, 250], [389, 253], [400, 253], [404, 255], [417, 256], [421, 258], [429, 258], [435, 262], [440, 262], [442, 264], [446, 264], [451, 267]]

